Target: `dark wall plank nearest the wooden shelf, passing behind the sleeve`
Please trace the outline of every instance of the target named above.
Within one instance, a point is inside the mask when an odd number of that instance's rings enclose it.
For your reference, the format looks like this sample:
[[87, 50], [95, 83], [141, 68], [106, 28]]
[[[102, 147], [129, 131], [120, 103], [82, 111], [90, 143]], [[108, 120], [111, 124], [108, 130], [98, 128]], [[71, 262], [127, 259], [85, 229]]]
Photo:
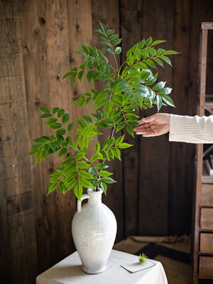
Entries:
[[[191, 1], [175, 1], [174, 7], [173, 46], [175, 50], [180, 52], [180, 55], [176, 55], [173, 58], [173, 99], [176, 107], [172, 109], [173, 114], [188, 114], [188, 88], [190, 84], [187, 76], [190, 65], [190, 17], [188, 15], [192, 9], [191, 4]], [[194, 160], [191, 156], [193, 149], [194, 146], [190, 145], [187, 147], [186, 143], [170, 143], [169, 234], [175, 234], [175, 231], [178, 234], [182, 234], [185, 222], [189, 222], [192, 214], [190, 212], [190, 215], [187, 216], [185, 205], [187, 202], [192, 204], [193, 171], [190, 172], [189, 170], [187, 172], [183, 169], [190, 166], [193, 169]], [[185, 182], [187, 182], [187, 188], [185, 188]], [[187, 200], [185, 200], [186, 196]], [[180, 207], [182, 207], [181, 211]], [[187, 233], [190, 234], [189, 231]]]

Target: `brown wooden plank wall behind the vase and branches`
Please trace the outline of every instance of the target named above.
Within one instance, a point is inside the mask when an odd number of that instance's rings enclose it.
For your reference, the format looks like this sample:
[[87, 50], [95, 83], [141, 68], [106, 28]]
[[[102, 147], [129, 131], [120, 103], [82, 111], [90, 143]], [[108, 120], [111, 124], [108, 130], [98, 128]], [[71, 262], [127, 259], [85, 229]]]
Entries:
[[[47, 196], [46, 180], [58, 160], [53, 156], [35, 168], [26, 154], [33, 138], [46, 131], [45, 122], [37, 120], [39, 105], [58, 105], [74, 119], [80, 115], [69, 106], [87, 83], [72, 88], [60, 78], [80, 64], [73, 54], [79, 43], [97, 44], [92, 36], [97, 19], [121, 34], [120, 62], [131, 45], [150, 35], [180, 51], [173, 68], [160, 70], [176, 105], [162, 111], [196, 114], [200, 22], [213, 21], [211, 0], [1, 0], [1, 283], [35, 283], [38, 273], [75, 250], [73, 194]], [[122, 163], [111, 165], [118, 182], [103, 199], [116, 215], [116, 241], [132, 234], [190, 234], [195, 146], [169, 143], [168, 135], [126, 141], [134, 146], [123, 153]]]

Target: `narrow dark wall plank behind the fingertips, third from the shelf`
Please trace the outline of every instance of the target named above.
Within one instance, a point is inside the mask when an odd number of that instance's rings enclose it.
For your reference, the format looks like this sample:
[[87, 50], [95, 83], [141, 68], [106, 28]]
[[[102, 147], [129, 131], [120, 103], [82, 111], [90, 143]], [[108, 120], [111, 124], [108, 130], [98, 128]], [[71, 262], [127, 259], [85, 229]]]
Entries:
[[[122, 40], [122, 62], [126, 60], [126, 52], [133, 44], [143, 38], [142, 26], [142, 2], [121, 1], [121, 37]], [[138, 111], [140, 116], [140, 112]], [[126, 132], [126, 131], [125, 131]], [[138, 234], [138, 208], [139, 208], [139, 173], [141, 160], [139, 153], [140, 136], [131, 137], [126, 134], [126, 142], [133, 144], [133, 148], [125, 149], [123, 153], [123, 175], [124, 175], [124, 237]]]

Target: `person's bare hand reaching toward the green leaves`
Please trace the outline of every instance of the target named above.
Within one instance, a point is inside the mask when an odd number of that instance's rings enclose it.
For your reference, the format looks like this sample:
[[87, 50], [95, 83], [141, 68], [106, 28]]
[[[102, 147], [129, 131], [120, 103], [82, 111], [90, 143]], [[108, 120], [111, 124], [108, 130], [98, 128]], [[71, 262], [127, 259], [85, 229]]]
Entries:
[[133, 130], [143, 137], [160, 136], [170, 131], [170, 114], [153, 114], [139, 121]]

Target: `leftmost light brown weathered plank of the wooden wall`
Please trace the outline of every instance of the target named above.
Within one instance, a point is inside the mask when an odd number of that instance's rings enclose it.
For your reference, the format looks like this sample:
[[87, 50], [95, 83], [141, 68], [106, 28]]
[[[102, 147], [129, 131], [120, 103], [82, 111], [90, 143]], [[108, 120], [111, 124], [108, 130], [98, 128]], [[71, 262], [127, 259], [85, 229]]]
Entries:
[[18, 1], [1, 1], [0, 18], [1, 273], [11, 283], [33, 283], [38, 263]]

